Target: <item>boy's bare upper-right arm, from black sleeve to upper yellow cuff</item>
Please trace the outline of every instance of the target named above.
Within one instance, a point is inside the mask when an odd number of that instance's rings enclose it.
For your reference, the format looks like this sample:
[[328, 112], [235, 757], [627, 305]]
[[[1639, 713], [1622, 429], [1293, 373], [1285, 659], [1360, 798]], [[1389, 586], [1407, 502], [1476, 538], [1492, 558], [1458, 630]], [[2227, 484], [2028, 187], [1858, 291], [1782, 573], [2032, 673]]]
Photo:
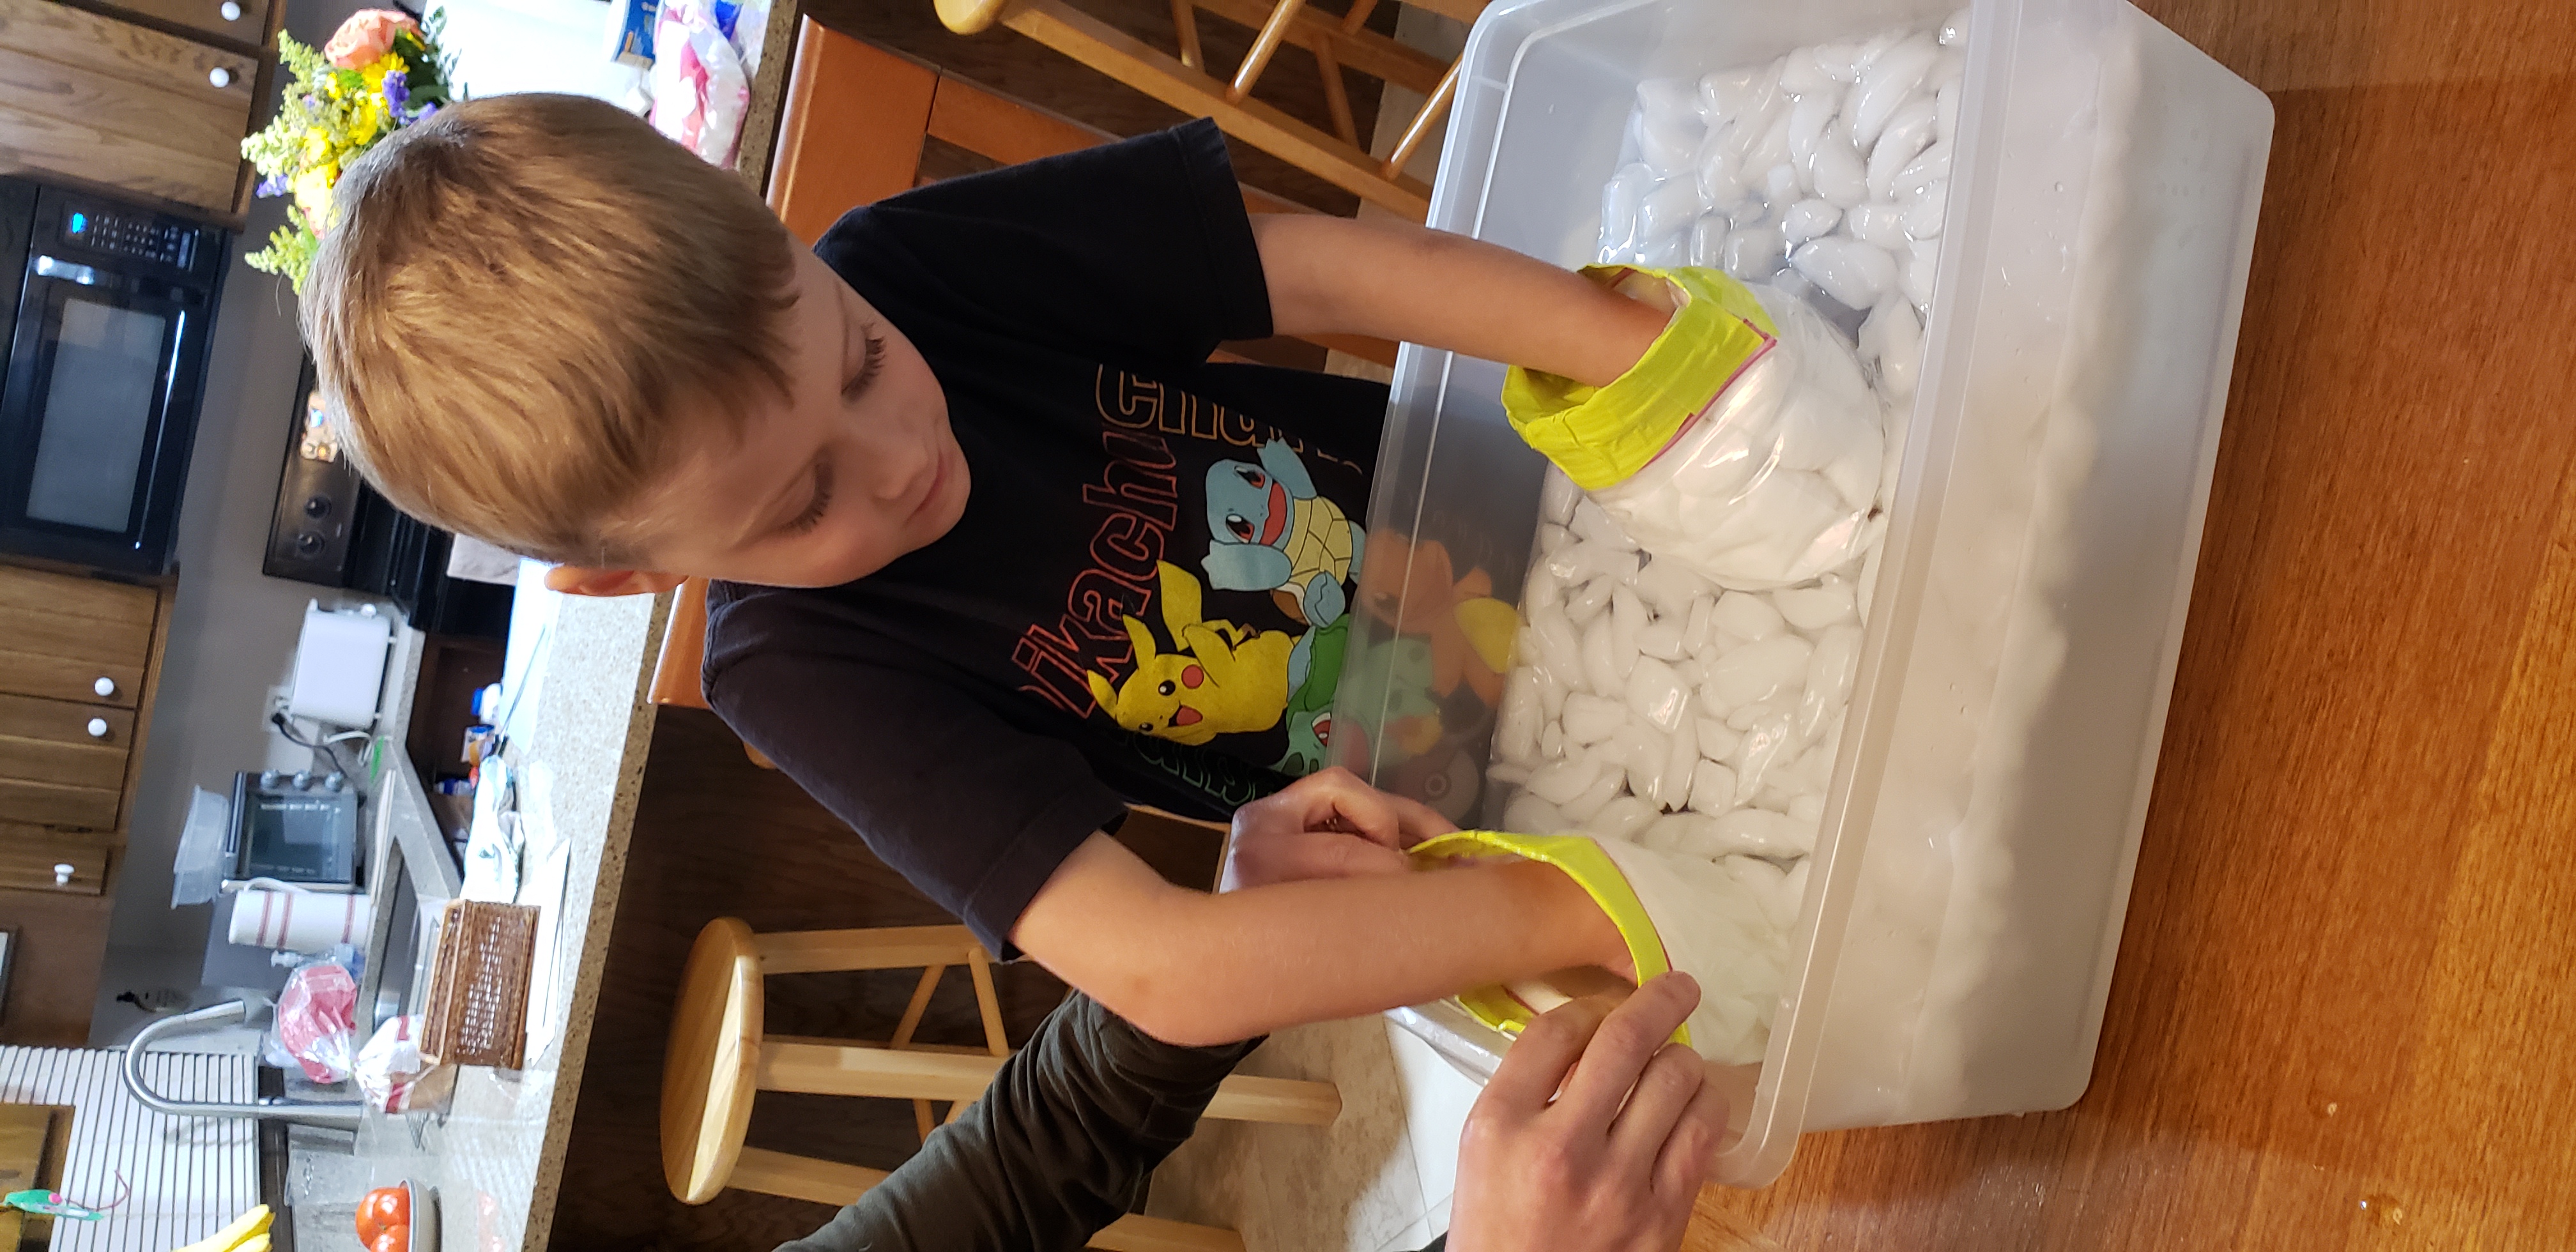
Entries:
[[1662, 309], [1510, 247], [1409, 222], [1255, 214], [1275, 335], [1378, 335], [1605, 386]]

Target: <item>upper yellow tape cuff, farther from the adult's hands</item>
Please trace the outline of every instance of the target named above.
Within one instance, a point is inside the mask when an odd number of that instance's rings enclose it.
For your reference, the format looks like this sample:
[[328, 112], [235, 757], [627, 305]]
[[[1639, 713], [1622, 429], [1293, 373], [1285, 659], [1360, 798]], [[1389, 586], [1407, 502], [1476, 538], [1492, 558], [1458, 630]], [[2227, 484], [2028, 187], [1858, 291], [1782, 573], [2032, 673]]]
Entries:
[[1602, 286], [1631, 276], [1662, 278], [1677, 301], [1646, 356], [1607, 386], [1522, 366], [1502, 379], [1502, 412], [1512, 430], [1592, 492], [1654, 461], [1744, 366], [1777, 343], [1780, 330], [1752, 289], [1723, 270], [1584, 265], [1582, 273]]

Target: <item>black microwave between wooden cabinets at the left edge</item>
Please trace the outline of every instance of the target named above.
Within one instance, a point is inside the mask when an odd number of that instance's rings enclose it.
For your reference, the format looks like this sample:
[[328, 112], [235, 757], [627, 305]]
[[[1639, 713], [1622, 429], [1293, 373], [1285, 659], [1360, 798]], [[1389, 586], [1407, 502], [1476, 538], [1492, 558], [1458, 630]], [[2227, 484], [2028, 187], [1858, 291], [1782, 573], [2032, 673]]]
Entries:
[[229, 234], [0, 178], [0, 549], [165, 574]]

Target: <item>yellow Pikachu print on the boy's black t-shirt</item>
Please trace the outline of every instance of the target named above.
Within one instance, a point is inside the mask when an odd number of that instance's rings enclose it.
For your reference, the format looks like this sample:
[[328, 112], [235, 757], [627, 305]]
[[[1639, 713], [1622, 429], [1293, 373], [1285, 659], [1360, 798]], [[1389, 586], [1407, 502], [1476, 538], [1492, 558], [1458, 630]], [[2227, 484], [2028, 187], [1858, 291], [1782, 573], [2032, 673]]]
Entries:
[[1157, 574], [1172, 652], [1157, 647], [1144, 621], [1126, 618], [1136, 672], [1123, 683], [1084, 675], [1100, 708], [1126, 729], [1182, 745], [1278, 726], [1288, 708], [1291, 652], [1303, 636], [1203, 621], [1198, 577], [1172, 562], [1157, 562]]

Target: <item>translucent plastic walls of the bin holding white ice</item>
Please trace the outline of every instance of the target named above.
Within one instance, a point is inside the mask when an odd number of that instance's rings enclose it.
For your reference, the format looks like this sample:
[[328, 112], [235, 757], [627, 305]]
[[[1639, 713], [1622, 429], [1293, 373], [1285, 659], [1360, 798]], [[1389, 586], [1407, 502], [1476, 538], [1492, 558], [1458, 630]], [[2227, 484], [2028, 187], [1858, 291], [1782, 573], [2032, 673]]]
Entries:
[[[1430, 224], [1589, 260], [1636, 82], [1935, 23], [1950, 0], [1499, 0]], [[1723, 1074], [1716, 1180], [1801, 1131], [2063, 1108], [2092, 1077], [2200, 554], [2272, 108], [2120, 0], [1976, 0], [1924, 374], [1790, 974]], [[1543, 461], [1502, 368], [1406, 345], [1370, 536], [1481, 554], [1517, 600]], [[1414, 569], [1425, 569], [1414, 562]], [[1406, 757], [1394, 621], [1448, 585], [1368, 567], [1345, 763], [1476, 817], [1492, 721]], [[1419, 647], [1414, 649], [1419, 654]], [[1494, 817], [1484, 809], [1484, 817]], [[1399, 1012], [1471, 1072], [1504, 1041]]]

